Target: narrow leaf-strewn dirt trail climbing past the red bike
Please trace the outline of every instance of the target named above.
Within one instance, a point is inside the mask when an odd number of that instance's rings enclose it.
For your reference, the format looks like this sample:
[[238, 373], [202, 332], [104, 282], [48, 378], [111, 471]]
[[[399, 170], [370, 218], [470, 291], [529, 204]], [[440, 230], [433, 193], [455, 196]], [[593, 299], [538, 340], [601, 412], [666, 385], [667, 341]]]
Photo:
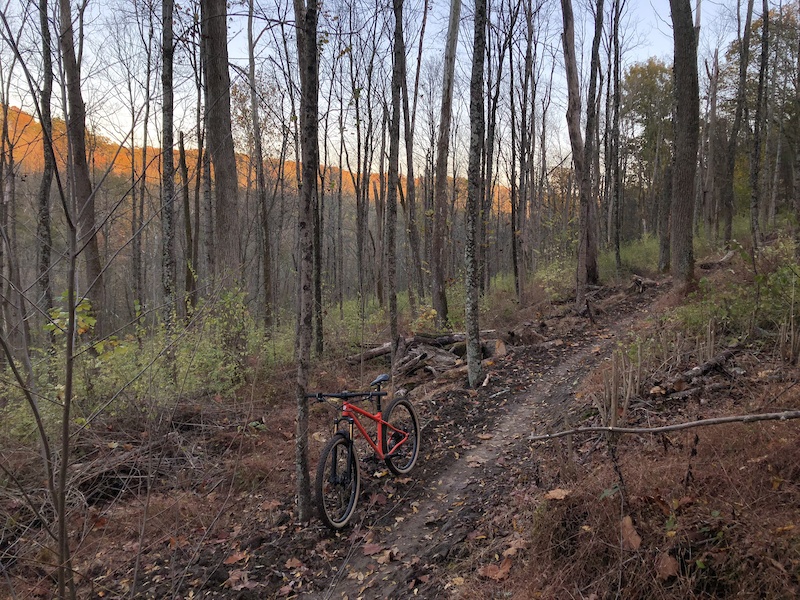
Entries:
[[[609, 315], [607, 319], [614, 321], [610, 328], [601, 322], [570, 343], [515, 357], [512, 372], [524, 389], [515, 392], [506, 387], [490, 396], [500, 401], [505, 414], [491, 428], [469, 435], [471, 444], [463, 451], [455, 438], [449, 447], [445, 441], [453, 460], [438, 473], [412, 473], [416, 483], [389, 514], [377, 519], [372, 515], [349, 538], [339, 538], [339, 543], [349, 542], [351, 547], [334, 565], [327, 589], [303, 597], [441, 597], [441, 578], [430, 576], [435, 565], [457, 555], [458, 545], [475, 531], [474, 522], [485, 519], [487, 509], [493, 512], [495, 506], [487, 502], [502, 502], [492, 492], [506, 483], [510, 466], [517, 477], [524, 471], [525, 479], [540, 483], [528, 438], [570, 421], [568, 401], [576, 387], [609, 355], [618, 336], [647, 311], [627, 312], [621, 319], [618, 313]], [[423, 431], [423, 445], [430, 442], [431, 429]]]

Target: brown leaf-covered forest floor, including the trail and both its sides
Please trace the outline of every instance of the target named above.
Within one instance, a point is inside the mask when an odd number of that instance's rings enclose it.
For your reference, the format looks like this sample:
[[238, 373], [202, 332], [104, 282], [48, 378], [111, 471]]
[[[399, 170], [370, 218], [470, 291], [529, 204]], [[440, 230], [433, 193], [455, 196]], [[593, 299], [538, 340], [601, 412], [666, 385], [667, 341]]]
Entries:
[[[291, 402], [265, 401], [266, 386], [253, 382], [235, 408], [184, 406], [171, 415], [172, 450], [161, 455], [182, 467], [160, 470], [149, 494], [96, 502], [76, 523], [79, 595], [798, 597], [796, 421], [611, 442], [597, 433], [531, 439], [601, 424], [614, 373], [624, 381], [642, 370], [612, 368], [618, 349], [666, 340], [660, 316], [678, 301], [667, 280], [641, 293], [600, 290], [592, 319], [567, 305], [532, 307], [515, 318], [535, 320], [547, 342], [488, 361], [477, 390], [460, 380], [417, 382], [417, 466], [396, 478], [362, 448], [358, 512], [339, 533], [294, 519]], [[737, 351], [700, 392], [681, 396], [676, 375], [700, 355], [665, 352], [658, 368], [637, 372], [638, 389], [650, 394], [633, 394], [624, 424], [800, 408], [796, 368], [763, 348]], [[273, 376], [269, 389], [291, 389], [284, 377]], [[323, 370], [314, 389], [338, 391], [345, 379]], [[332, 416], [324, 405], [313, 411], [312, 468]], [[123, 436], [110, 424], [95, 435], [95, 447], [117, 450], [144, 433]], [[17, 597], [49, 597], [47, 570], [25, 564], [8, 571], [26, 590]]]

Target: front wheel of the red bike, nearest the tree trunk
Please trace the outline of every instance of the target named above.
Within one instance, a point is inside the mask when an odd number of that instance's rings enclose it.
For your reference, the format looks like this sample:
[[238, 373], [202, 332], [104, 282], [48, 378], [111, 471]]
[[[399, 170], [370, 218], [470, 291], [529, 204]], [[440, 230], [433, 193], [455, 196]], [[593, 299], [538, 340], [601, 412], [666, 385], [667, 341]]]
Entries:
[[355, 445], [344, 433], [325, 444], [315, 482], [319, 517], [331, 529], [345, 527], [356, 509], [361, 478]]

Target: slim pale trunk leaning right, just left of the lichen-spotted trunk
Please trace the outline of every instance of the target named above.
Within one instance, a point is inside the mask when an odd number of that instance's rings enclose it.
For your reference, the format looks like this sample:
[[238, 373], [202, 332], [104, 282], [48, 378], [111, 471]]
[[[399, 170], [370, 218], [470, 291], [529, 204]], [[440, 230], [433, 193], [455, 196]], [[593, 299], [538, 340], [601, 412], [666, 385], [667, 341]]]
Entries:
[[445, 283], [445, 238], [447, 235], [447, 159], [450, 149], [450, 125], [453, 112], [453, 87], [458, 45], [458, 24], [461, 18], [461, 0], [451, 0], [450, 23], [444, 52], [444, 79], [442, 81], [442, 110], [439, 119], [439, 140], [436, 144], [436, 172], [434, 192], [433, 239], [431, 247], [431, 296], [436, 311], [436, 324], [449, 326], [447, 315], [447, 286]]

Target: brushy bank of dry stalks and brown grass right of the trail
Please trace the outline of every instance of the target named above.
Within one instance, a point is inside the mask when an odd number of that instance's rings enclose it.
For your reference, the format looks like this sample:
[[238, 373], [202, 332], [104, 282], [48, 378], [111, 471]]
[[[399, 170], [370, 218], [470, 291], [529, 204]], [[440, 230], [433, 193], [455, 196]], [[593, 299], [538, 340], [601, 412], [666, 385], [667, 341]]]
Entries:
[[[800, 409], [799, 277], [789, 239], [755, 259], [740, 249], [703, 272], [688, 298], [663, 299], [587, 379], [571, 410], [595, 425], [616, 411], [619, 426], [646, 429]], [[726, 350], [735, 352], [731, 362], [687, 383], [688, 370]], [[527, 566], [506, 595], [800, 596], [798, 439], [797, 421], [642, 431], [612, 442], [584, 435], [571, 466], [542, 444], [543, 477], [563, 493], [528, 492], [537, 503], [520, 517]]]

